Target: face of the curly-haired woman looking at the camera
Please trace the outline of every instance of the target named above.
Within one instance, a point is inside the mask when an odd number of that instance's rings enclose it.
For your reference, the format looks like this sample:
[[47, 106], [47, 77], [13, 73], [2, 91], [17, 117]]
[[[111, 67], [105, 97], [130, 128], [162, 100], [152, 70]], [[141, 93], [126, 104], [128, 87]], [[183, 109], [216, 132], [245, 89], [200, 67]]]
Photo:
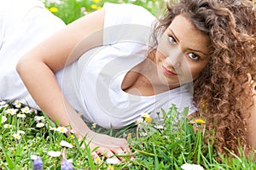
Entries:
[[183, 15], [177, 15], [160, 37], [156, 64], [170, 87], [195, 80], [209, 61], [210, 39]]

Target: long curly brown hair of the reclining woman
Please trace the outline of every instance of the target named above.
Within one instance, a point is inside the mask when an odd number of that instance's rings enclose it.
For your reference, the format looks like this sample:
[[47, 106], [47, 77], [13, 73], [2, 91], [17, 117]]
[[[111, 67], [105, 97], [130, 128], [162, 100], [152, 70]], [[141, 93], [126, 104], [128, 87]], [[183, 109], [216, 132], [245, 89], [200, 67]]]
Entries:
[[[256, 11], [248, 0], [180, 0], [168, 3], [154, 31], [159, 37], [178, 14], [210, 37], [210, 61], [194, 82], [194, 104], [207, 122], [206, 139], [226, 154], [250, 148], [247, 117], [253, 105], [247, 73], [256, 76]], [[155, 38], [156, 40], [157, 38]], [[157, 41], [156, 41], [157, 43]], [[212, 132], [214, 135], [212, 135]]]

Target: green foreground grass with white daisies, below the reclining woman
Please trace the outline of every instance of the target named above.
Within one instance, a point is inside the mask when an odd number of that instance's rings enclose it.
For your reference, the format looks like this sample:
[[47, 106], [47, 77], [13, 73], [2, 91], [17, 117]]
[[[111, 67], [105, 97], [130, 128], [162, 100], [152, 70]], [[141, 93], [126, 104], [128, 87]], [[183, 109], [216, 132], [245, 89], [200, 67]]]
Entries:
[[[49, 121], [42, 112], [22, 113], [21, 106], [1, 105], [0, 115], [0, 167], [3, 169], [32, 169], [31, 156], [40, 156], [44, 169], [60, 169], [61, 156], [51, 157], [48, 152], [64, 151], [67, 159], [73, 160], [74, 169], [108, 169], [110, 166], [102, 156], [93, 161], [90, 149], [84, 141], [78, 141], [73, 134], [66, 135], [56, 130], [58, 126]], [[11, 109], [16, 109], [13, 111]], [[11, 114], [12, 113], [12, 114]], [[203, 142], [203, 131], [194, 133], [193, 126], [185, 118], [188, 110], [178, 113], [172, 105], [169, 111], [163, 111], [165, 122], [141, 122], [131, 124], [119, 131], [92, 127], [96, 132], [106, 133], [128, 140], [135, 159], [124, 156], [125, 161], [113, 165], [114, 169], [181, 169], [184, 163], [199, 164], [205, 169], [255, 169], [256, 165], [246, 156], [224, 157], [212, 149], [211, 144]], [[21, 115], [20, 115], [21, 114]], [[26, 117], [21, 118], [22, 114]], [[178, 117], [177, 121], [177, 115]], [[36, 120], [35, 117], [41, 118]], [[6, 117], [6, 119], [4, 118]], [[37, 127], [38, 123], [44, 127]], [[7, 124], [11, 127], [7, 127]], [[89, 125], [90, 126], [90, 125]], [[201, 126], [200, 124], [197, 126]], [[14, 134], [20, 133], [20, 139]], [[73, 148], [64, 149], [61, 141], [73, 144]], [[81, 145], [85, 145], [81, 147]], [[217, 161], [215, 157], [220, 158]]]

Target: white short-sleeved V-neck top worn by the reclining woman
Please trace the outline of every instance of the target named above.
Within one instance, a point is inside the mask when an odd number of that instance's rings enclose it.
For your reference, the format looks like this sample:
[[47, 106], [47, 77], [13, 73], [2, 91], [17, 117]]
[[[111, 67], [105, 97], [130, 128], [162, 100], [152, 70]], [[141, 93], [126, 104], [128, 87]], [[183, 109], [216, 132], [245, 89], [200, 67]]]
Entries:
[[120, 128], [135, 122], [142, 113], [154, 118], [160, 109], [191, 105], [189, 84], [166, 93], [139, 96], [125, 93], [125, 74], [147, 56], [154, 16], [131, 4], [105, 3], [104, 45], [84, 53], [76, 62], [55, 74], [63, 94], [86, 121]]

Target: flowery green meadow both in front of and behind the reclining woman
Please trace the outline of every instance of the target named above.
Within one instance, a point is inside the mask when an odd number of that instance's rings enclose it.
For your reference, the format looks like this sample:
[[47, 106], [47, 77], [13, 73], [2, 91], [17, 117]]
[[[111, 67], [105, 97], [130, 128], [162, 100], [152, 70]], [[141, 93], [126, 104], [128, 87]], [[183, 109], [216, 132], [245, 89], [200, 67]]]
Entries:
[[[157, 13], [160, 1], [111, 0], [112, 3], [134, 3]], [[66, 23], [102, 8], [101, 0], [45, 0], [49, 10]], [[89, 125], [99, 133], [128, 140], [132, 155], [123, 156], [119, 164], [102, 156], [93, 160], [89, 147], [66, 127], [55, 125], [41, 111], [34, 111], [19, 101], [0, 102], [0, 169], [256, 169], [246, 156], [222, 156], [203, 142], [204, 131], [194, 133], [193, 126], [203, 127], [202, 120], [190, 123], [188, 113], [178, 113], [175, 105], [162, 111], [165, 122], [152, 123], [148, 115], [140, 122], [119, 131]], [[180, 115], [177, 121], [177, 115]], [[84, 145], [84, 147], [81, 147]], [[71, 167], [70, 167], [71, 166]], [[187, 167], [186, 167], [187, 166]]]

